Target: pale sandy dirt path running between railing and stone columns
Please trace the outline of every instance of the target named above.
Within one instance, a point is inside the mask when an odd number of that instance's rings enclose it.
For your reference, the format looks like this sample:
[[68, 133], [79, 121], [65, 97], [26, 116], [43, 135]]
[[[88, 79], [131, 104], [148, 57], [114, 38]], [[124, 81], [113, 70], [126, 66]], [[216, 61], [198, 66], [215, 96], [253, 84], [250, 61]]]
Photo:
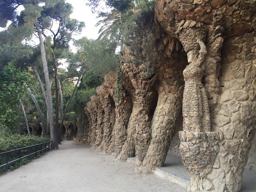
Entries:
[[186, 191], [154, 174], [133, 173], [132, 163], [114, 163], [112, 159], [112, 155], [101, 155], [90, 147], [63, 142], [59, 150], [49, 151], [27, 165], [0, 176], [0, 191]]

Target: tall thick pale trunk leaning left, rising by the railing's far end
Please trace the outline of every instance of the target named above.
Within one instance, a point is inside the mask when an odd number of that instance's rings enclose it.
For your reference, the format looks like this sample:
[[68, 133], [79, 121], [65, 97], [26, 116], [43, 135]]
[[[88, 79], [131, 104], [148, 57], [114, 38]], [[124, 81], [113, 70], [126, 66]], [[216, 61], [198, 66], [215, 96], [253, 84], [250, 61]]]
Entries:
[[47, 61], [46, 61], [46, 56], [45, 56], [44, 40], [42, 38], [42, 31], [38, 25], [37, 18], [35, 18], [35, 27], [37, 29], [37, 33], [38, 33], [38, 37], [39, 37], [39, 41], [40, 41], [42, 63], [43, 63], [44, 75], [45, 75], [45, 85], [46, 85], [46, 95], [47, 95], [47, 100], [48, 100], [48, 114], [49, 114], [49, 122], [50, 122], [50, 136], [51, 136], [51, 140], [52, 140], [52, 147], [54, 149], [58, 149], [59, 146], [58, 146], [57, 136], [56, 136], [55, 128], [54, 128], [52, 91], [51, 91], [48, 66], [47, 66]]

